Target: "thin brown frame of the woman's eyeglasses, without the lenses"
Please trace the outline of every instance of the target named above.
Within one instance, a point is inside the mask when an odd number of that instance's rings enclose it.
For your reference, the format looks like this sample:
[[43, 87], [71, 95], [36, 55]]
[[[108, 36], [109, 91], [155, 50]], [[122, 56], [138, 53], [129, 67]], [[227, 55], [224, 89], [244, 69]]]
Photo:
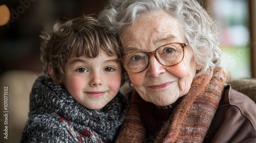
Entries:
[[[181, 61], [180, 61], [180, 62], [182, 62], [182, 60], [183, 60], [183, 58], [184, 58], [184, 53], [185, 53], [185, 52], [184, 52], [184, 47], [185, 47], [185, 46], [188, 46], [189, 43], [188, 43], [188, 42], [185, 42], [185, 43], [174, 42], [174, 43], [168, 43], [168, 44], [179, 44], [179, 45], [182, 47], [183, 56], [182, 56], [182, 59], [181, 59]], [[145, 54], [147, 55], [147, 58], [148, 58], [148, 59], [149, 59], [150, 56], [153, 54], [154, 57], [156, 58], [156, 60], [157, 60], [161, 65], [163, 65], [163, 66], [175, 66], [175, 65], [179, 64], [180, 62], [178, 62], [178, 63], [176, 63], [176, 64], [174, 64], [174, 65], [164, 65], [164, 64], [162, 64], [162, 63], [158, 60], [158, 57], [157, 57], [157, 54], [156, 54], [156, 53], [157, 53], [157, 50], [160, 49], [160, 47], [165, 46], [165, 45], [168, 45], [168, 44], [161, 45], [161, 46], [159, 46], [156, 50], [154, 50], [154, 51], [152, 51], [152, 52], [139, 52], [139, 53], [145, 53]], [[124, 65], [123, 65], [123, 57], [126, 56], [126, 55], [128, 55], [128, 54], [132, 54], [132, 53], [138, 53], [138, 52], [127, 53], [127, 54], [124, 54], [124, 55], [122, 55], [121, 57], [118, 58], [118, 61], [120, 61], [120, 62], [122, 63], [122, 66], [123, 66], [123, 67], [124, 67]], [[131, 72], [131, 71], [129, 71], [129, 72], [130, 72], [130, 73], [133, 73], [133, 74], [141, 73], [142, 71], [144, 71], [144, 70], [147, 68], [147, 66], [148, 66], [149, 63], [150, 63], [150, 60], [148, 60], [147, 65], [145, 66], [145, 68], [142, 69], [142, 70], [139, 71], [139, 72], [136, 72], [136, 73]], [[125, 68], [125, 67], [124, 67], [124, 68]], [[125, 69], [126, 69], [126, 68], [125, 68]], [[127, 69], [126, 69], [126, 70], [127, 70]], [[127, 71], [128, 71], [128, 70], [127, 70]]]

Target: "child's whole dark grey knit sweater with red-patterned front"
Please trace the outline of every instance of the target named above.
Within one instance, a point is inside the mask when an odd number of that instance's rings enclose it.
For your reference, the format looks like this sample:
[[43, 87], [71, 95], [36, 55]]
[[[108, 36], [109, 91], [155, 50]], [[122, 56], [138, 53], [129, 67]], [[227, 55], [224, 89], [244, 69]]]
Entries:
[[112, 142], [127, 108], [127, 98], [118, 92], [101, 112], [87, 109], [40, 76], [30, 93], [29, 120], [20, 142]]

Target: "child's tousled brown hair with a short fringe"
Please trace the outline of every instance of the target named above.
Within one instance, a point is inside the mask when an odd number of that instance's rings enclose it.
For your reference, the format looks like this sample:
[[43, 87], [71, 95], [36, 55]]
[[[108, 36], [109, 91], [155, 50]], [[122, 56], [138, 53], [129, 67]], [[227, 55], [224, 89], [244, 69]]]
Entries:
[[122, 55], [117, 37], [105, 32], [97, 19], [90, 16], [57, 19], [53, 32], [48, 34], [42, 31], [40, 38], [45, 74], [49, 75], [48, 64], [51, 62], [54, 72], [52, 80], [57, 84], [65, 78], [65, 64], [71, 55], [95, 58], [101, 49], [109, 56]]

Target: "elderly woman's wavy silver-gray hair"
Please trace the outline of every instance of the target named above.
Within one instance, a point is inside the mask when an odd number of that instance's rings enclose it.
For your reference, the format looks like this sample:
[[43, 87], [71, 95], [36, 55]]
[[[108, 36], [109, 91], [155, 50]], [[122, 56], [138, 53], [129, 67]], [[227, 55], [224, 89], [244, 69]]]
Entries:
[[144, 13], [164, 10], [177, 18], [183, 28], [196, 62], [202, 66], [200, 74], [220, 66], [220, 31], [216, 22], [195, 0], [116, 0], [99, 13], [98, 21], [106, 31], [119, 36], [121, 30]]

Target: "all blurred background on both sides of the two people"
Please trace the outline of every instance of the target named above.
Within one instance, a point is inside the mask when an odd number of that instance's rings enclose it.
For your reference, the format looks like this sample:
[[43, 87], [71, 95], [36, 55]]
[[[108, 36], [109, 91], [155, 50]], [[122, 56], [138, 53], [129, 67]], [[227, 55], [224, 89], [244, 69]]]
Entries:
[[[200, 0], [198, 0], [200, 1]], [[29, 112], [29, 92], [42, 71], [39, 34], [53, 30], [58, 17], [97, 14], [108, 0], [0, 1], [0, 142], [19, 142]], [[232, 78], [255, 78], [255, 0], [202, 0], [218, 22], [222, 66]], [[254, 31], [254, 32], [253, 32]], [[253, 42], [254, 41], [254, 42]], [[254, 56], [253, 56], [254, 55]], [[8, 86], [8, 139], [4, 139], [4, 87]]]

